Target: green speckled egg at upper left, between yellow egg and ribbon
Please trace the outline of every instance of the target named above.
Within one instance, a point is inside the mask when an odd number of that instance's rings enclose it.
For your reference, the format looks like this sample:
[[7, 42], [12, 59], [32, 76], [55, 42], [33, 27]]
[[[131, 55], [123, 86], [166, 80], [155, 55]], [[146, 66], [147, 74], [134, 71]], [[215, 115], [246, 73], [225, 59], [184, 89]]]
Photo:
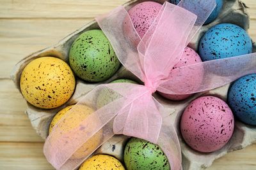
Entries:
[[120, 62], [101, 30], [83, 32], [72, 44], [69, 62], [74, 72], [86, 81], [103, 81], [111, 77]]

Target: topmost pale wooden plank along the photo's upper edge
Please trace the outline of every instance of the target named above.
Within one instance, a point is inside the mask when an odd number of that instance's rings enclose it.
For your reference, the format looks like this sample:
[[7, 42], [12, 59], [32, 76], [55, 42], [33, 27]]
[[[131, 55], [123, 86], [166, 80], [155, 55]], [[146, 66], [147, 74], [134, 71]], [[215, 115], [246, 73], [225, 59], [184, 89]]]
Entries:
[[0, 18], [92, 18], [126, 0], [1, 0]]

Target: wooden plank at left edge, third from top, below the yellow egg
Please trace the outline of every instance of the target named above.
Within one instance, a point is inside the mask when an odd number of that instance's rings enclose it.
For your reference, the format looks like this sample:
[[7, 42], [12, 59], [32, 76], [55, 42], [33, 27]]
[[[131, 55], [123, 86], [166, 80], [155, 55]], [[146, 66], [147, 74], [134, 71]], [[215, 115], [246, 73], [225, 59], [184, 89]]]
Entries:
[[31, 127], [26, 101], [10, 79], [0, 80], [0, 141], [43, 141]]

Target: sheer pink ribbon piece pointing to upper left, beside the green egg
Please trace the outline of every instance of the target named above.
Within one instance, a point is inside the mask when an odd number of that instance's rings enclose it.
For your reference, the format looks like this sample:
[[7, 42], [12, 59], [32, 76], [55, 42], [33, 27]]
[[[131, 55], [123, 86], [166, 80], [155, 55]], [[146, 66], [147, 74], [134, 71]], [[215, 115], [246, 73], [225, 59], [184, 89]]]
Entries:
[[119, 6], [108, 15], [97, 17], [96, 20], [100, 29], [109, 39], [122, 65], [143, 80], [141, 59], [136, 50], [141, 39], [124, 6]]

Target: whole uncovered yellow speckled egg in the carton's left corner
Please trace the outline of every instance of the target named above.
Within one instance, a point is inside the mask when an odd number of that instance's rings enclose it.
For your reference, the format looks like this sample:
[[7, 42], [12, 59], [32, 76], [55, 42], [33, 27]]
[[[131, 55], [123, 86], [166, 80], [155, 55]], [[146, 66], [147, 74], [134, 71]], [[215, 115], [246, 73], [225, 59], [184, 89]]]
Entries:
[[66, 103], [76, 87], [72, 70], [66, 62], [55, 57], [40, 57], [24, 68], [20, 90], [26, 101], [44, 109]]

